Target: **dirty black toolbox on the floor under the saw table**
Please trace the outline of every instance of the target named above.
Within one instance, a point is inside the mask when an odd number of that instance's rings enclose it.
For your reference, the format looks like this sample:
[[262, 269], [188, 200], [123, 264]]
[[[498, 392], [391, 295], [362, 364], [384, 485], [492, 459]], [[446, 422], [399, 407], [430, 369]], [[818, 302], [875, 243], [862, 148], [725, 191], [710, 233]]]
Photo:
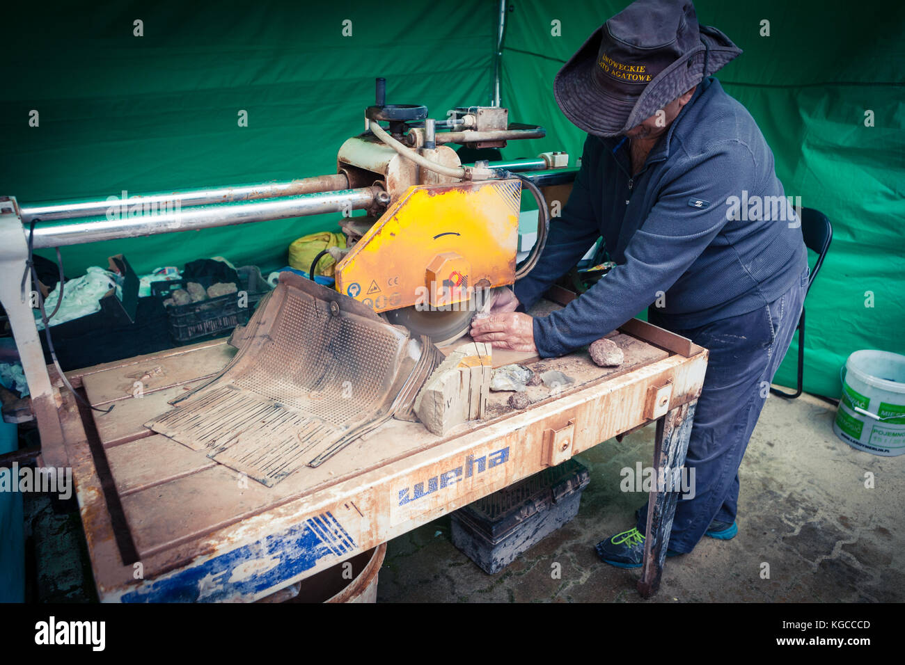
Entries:
[[499, 573], [578, 514], [588, 482], [577, 460], [519, 480], [452, 513], [452, 544], [485, 573]]

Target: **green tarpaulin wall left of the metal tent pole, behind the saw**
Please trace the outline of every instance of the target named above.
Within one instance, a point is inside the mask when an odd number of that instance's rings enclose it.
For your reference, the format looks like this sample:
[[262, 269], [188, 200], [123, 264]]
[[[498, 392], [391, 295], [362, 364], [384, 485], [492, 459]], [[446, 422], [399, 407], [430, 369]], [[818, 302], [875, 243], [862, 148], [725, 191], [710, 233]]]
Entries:
[[[364, 130], [374, 80], [387, 101], [491, 101], [497, 5], [330, 3], [16, 5], [0, 71], [0, 192], [22, 203], [336, 172]], [[141, 20], [144, 36], [134, 36]], [[38, 127], [30, 127], [32, 111]], [[240, 113], [247, 112], [247, 127]], [[124, 253], [138, 273], [221, 253], [265, 273], [338, 215], [63, 248], [67, 275]], [[52, 256], [52, 252], [47, 253]]]

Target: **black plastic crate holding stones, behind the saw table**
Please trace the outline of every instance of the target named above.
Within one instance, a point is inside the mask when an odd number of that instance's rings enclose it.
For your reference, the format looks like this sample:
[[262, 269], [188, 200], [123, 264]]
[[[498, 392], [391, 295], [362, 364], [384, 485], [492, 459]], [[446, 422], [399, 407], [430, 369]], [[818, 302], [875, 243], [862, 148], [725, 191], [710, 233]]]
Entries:
[[[254, 266], [243, 266], [236, 269], [236, 272], [239, 273], [236, 289], [248, 294], [247, 307], [239, 307], [237, 293], [227, 293], [187, 305], [170, 305], [167, 307], [170, 337], [176, 342], [186, 343], [202, 337], [225, 334], [236, 326], [248, 323], [258, 301], [271, 289], [263, 280], [261, 271]], [[215, 280], [206, 277], [155, 281], [151, 283], [151, 294], [167, 299], [176, 289], [185, 289], [190, 281], [201, 284], [205, 289], [215, 283]]]

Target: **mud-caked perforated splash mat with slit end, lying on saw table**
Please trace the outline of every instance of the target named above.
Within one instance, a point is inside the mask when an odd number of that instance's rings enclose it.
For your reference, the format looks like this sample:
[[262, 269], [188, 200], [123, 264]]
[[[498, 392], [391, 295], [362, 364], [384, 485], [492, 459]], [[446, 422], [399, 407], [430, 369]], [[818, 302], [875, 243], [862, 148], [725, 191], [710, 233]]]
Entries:
[[233, 336], [219, 375], [146, 426], [272, 486], [394, 415], [440, 352], [372, 309], [291, 272]]

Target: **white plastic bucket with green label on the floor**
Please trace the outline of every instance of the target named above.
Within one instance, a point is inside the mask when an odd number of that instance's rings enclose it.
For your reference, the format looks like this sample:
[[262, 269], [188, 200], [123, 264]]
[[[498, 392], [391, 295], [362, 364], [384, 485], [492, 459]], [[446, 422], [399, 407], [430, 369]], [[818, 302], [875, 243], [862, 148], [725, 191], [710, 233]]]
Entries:
[[860, 451], [905, 453], [905, 356], [862, 350], [848, 357], [833, 431]]

